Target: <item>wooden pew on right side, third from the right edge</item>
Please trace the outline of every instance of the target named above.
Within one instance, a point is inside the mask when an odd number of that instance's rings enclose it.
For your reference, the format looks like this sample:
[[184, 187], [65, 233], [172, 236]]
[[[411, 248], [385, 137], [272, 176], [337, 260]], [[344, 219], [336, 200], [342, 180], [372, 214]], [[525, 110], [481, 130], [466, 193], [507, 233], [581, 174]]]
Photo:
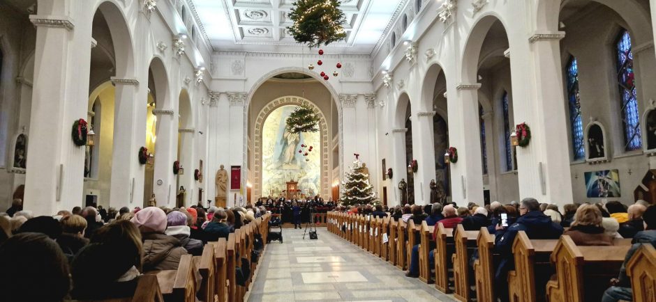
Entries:
[[508, 273], [510, 301], [544, 301], [545, 286], [554, 273], [549, 257], [558, 244], [556, 239], [528, 239], [519, 231], [512, 244], [515, 270]]

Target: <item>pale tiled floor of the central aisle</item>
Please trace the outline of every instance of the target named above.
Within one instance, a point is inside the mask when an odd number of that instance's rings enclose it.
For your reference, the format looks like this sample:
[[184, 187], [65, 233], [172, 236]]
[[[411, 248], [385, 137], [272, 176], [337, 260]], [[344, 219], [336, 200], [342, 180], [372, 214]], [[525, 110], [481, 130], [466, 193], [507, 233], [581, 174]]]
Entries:
[[326, 228], [318, 235], [283, 229], [285, 244], [267, 245], [248, 301], [454, 301]]

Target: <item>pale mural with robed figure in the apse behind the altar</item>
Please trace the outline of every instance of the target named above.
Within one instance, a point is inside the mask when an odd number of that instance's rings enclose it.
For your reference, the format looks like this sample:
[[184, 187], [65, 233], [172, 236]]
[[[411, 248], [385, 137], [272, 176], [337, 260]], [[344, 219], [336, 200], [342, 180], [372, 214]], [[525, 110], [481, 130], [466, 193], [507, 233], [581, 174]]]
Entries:
[[[320, 132], [286, 130], [285, 121], [296, 106], [271, 111], [262, 127], [262, 194], [279, 196], [290, 180], [306, 196], [320, 192]], [[313, 146], [308, 151], [308, 146]], [[299, 152], [300, 151], [300, 152]], [[304, 155], [306, 154], [307, 155]]]

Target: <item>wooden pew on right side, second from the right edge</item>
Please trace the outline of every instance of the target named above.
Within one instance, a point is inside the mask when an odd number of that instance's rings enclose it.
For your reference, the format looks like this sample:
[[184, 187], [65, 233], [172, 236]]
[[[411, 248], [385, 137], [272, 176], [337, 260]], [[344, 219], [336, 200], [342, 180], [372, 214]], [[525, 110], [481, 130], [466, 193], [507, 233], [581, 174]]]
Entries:
[[630, 244], [616, 246], [576, 246], [563, 235], [551, 253], [556, 278], [546, 285], [550, 301], [600, 301], [611, 278], [617, 278]]

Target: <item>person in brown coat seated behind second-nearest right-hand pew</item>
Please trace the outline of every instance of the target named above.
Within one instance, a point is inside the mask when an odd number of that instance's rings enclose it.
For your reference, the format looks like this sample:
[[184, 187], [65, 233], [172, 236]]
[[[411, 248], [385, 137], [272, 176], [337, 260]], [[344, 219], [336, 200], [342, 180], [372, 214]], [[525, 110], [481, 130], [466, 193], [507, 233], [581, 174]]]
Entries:
[[582, 205], [576, 210], [574, 222], [563, 235], [569, 235], [577, 246], [611, 246], [613, 237], [602, 227], [602, 212], [594, 205]]

